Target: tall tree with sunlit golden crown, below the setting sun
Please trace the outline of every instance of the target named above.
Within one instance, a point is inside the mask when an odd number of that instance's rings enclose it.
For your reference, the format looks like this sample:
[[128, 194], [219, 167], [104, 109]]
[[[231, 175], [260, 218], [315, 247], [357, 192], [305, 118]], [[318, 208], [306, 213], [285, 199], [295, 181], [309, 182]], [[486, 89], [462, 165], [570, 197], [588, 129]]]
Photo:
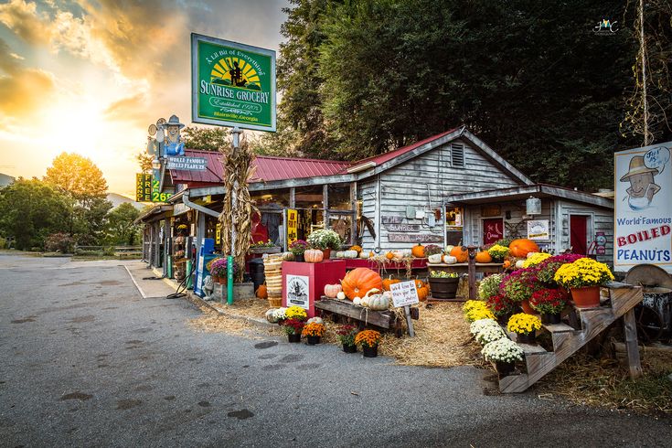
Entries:
[[82, 245], [98, 245], [104, 237], [107, 212], [107, 181], [91, 159], [61, 153], [47, 168], [45, 182], [72, 197], [69, 227], [66, 229]]

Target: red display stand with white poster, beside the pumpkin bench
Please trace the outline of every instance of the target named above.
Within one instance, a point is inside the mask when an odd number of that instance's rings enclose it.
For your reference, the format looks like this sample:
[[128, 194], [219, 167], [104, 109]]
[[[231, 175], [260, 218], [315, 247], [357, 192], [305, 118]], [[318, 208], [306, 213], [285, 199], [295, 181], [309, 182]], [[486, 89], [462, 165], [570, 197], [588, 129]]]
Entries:
[[340, 283], [345, 276], [343, 260], [283, 261], [283, 306], [301, 306], [308, 317], [315, 317], [315, 301], [325, 293], [325, 284]]

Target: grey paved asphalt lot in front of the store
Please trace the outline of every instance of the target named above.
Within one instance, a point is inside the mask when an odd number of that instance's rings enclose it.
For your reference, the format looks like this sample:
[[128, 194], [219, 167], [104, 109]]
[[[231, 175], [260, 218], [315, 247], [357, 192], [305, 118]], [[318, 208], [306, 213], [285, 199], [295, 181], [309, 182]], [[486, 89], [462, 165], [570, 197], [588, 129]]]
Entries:
[[194, 332], [115, 261], [0, 254], [1, 446], [670, 446], [672, 421], [487, 396], [409, 368]]

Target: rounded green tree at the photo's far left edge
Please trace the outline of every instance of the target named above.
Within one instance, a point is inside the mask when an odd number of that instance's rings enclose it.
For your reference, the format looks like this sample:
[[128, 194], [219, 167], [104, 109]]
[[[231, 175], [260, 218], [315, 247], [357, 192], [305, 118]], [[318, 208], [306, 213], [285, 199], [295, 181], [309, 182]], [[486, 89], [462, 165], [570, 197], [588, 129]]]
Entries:
[[42, 248], [45, 238], [67, 230], [73, 201], [54, 187], [19, 177], [0, 189], [0, 233], [14, 237], [16, 249]]

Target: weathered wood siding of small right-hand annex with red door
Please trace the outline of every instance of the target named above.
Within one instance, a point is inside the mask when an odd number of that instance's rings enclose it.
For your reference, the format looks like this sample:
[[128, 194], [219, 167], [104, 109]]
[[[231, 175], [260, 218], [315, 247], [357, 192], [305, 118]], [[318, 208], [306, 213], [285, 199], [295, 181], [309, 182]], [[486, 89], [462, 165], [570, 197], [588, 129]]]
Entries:
[[558, 245], [562, 250], [570, 247], [570, 215], [585, 215], [588, 219], [588, 248], [594, 253], [592, 242], [595, 234], [603, 231], [607, 239], [604, 255], [598, 255], [597, 261], [613, 265], [613, 210], [610, 208], [592, 207], [588, 205], [562, 200], [560, 202], [560, 222], [562, 231], [558, 237]]

